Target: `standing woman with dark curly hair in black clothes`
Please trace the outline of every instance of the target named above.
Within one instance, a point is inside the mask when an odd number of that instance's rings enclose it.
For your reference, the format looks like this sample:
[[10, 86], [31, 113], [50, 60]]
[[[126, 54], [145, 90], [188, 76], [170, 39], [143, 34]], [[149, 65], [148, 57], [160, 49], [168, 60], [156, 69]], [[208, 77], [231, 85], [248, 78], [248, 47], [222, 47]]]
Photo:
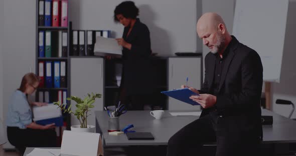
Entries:
[[124, 26], [122, 38], [116, 39], [123, 47], [120, 101], [129, 110], [143, 110], [144, 105], [151, 105], [154, 88], [150, 31], [136, 18], [138, 14], [133, 1], [123, 1], [114, 10], [114, 21]]

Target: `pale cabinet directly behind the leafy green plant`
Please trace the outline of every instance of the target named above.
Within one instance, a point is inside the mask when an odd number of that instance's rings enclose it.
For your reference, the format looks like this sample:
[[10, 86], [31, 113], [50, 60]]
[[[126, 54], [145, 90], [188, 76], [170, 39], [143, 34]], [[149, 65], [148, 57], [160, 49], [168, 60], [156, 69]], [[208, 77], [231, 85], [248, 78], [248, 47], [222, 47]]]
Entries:
[[[71, 58], [71, 95], [81, 97], [82, 99], [88, 92], [101, 93], [104, 91], [104, 59], [100, 57], [77, 57]], [[95, 125], [95, 110], [103, 110], [103, 96], [96, 98], [95, 107], [91, 109], [87, 124]], [[75, 101], [71, 101], [75, 104]], [[72, 111], [75, 111], [75, 105]], [[71, 124], [80, 124], [79, 120], [71, 115]]]

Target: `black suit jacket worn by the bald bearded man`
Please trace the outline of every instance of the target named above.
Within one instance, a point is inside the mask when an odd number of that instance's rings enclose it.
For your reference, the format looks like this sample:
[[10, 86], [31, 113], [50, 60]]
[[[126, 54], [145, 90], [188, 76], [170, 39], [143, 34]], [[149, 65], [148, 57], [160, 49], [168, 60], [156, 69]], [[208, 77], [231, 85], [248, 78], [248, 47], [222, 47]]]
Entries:
[[[205, 57], [205, 81], [200, 93], [213, 94], [215, 54]], [[258, 53], [232, 36], [232, 44], [225, 58], [217, 102], [203, 109], [201, 117], [213, 116], [220, 125], [216, 130], [228, 130], [239, 135], [262, 137], [260, 97], [263, 68]]]

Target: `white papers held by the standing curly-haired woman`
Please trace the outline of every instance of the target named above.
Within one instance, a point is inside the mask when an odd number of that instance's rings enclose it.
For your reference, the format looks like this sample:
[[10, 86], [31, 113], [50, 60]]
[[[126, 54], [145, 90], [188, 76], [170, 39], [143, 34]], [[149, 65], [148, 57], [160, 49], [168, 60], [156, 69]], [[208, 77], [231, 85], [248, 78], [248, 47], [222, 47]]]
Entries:
[[118, 45], [115, 38], [97, 36], [94, 44], [95, 55], [122, 55], [122, 46]]

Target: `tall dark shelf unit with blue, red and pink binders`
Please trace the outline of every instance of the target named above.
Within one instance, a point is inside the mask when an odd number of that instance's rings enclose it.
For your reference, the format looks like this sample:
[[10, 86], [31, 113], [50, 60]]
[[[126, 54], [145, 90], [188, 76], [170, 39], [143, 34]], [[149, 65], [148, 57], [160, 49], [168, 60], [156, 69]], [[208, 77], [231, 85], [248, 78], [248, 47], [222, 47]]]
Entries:
[[[36, 0], [36, 74], [40, 85], [36, 101], [62, 100], [70, 93], [69, 38], [71, 22], [70, 0]], [[70, 129], [70, 114], [63, 114], [64, 125]]]

